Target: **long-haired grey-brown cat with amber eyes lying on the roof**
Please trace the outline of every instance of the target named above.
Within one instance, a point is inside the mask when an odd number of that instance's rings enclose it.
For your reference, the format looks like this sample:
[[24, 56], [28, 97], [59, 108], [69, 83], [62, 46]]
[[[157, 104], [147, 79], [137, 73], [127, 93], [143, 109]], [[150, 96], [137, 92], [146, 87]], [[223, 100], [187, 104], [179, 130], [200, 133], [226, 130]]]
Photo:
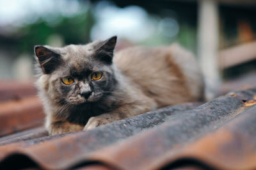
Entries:
[[195, 102], [204, 82], [177, 44], [116, 52], [116, 36], [86, 45], [36, 45], [36, 87], [51, 135], [89, 130], [167, 105]]

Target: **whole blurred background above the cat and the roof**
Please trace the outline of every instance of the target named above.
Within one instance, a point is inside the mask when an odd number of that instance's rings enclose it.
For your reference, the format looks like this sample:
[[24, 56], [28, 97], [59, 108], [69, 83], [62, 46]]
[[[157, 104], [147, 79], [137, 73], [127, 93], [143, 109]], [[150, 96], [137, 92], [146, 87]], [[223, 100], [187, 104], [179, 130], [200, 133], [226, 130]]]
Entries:
[[255, 1], [0, 0], [0, 81], [33, 79], [34, 45], [113, 35], [117, 50], [179, 42], [196, 55], [209, 91], [256, 69]]

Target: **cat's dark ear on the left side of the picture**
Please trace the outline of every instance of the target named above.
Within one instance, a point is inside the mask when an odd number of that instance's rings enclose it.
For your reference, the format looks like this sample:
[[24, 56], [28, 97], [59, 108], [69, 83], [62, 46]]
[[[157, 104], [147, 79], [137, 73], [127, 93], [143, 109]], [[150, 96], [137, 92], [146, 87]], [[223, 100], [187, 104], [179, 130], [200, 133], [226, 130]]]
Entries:
[[42, 45], [35, 46], [35, 55], [42, 71], [46, 74], [51, 73], [61, 63], [60, 54]]

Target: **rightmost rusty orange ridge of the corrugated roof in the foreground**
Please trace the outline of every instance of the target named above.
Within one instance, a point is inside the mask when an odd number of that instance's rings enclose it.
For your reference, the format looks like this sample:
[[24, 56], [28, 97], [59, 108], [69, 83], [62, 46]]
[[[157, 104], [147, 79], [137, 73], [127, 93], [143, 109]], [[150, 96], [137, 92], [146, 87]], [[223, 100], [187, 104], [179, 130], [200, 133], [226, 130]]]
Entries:
[[[177, 155], [166, 153], [163, 166], [180, 166], [185, 159], [202, 161], [214, 169], [255, 169], [256, 106], [221, 126], [216, 132], [188, 144]], [[164, 165], [165, 164], [165, 165]]]

